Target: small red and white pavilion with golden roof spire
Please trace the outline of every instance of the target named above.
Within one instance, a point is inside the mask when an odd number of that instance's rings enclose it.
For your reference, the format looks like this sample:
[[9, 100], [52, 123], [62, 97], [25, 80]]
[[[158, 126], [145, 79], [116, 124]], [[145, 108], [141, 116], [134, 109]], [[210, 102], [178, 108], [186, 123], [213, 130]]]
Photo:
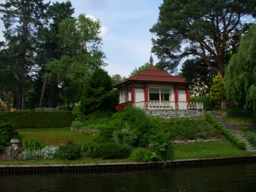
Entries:
[[127, 105], [145, 110], [202, 109], [202, 102], [189, 102], [189, 84], [154, 67], [150, 56], [150, 67], [114, 86], [120, 93], [116, 109], [123, 111]]

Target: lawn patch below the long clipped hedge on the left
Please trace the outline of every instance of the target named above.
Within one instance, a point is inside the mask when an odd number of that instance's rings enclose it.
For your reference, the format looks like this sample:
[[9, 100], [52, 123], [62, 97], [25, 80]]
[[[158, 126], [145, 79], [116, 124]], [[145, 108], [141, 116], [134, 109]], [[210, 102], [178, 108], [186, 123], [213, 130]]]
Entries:
[[24, 140], [38, 140], [45, 145], [65, 144], [68, 140], [74, 140], [76, 143], [91, 141], [92, 136], [81, 132], [70, 131], [69, 127], [55, 129], [17, 129]]

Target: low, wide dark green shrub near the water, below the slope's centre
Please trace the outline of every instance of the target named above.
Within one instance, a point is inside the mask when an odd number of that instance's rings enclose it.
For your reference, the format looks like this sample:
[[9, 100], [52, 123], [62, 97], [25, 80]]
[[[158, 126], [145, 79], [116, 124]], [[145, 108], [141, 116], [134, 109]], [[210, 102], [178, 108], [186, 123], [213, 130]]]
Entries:
[[102, 143], [99, 149], [95, 151], [93, 157], [102, 159], [125, 159], [131, 155], [132, 148], [120, 143]]

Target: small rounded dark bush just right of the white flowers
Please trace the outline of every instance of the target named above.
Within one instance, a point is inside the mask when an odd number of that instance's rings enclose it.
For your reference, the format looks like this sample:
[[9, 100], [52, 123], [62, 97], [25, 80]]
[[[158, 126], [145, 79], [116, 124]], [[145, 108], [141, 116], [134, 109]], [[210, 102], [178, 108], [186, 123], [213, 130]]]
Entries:
[[56, 152], [56, 156], [60, 159], [76, 160], [81, 157], [81, 154], [79, 148], [70, 143], [70, 145], [60, 145]]

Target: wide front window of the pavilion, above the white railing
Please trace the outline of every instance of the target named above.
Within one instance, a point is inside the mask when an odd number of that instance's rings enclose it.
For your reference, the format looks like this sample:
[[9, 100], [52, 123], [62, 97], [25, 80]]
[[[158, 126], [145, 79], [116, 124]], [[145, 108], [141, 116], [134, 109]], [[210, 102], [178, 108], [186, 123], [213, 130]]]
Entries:
[[170, 89], [149, 89], [149, 100], [171, 100], [171, 90]]

